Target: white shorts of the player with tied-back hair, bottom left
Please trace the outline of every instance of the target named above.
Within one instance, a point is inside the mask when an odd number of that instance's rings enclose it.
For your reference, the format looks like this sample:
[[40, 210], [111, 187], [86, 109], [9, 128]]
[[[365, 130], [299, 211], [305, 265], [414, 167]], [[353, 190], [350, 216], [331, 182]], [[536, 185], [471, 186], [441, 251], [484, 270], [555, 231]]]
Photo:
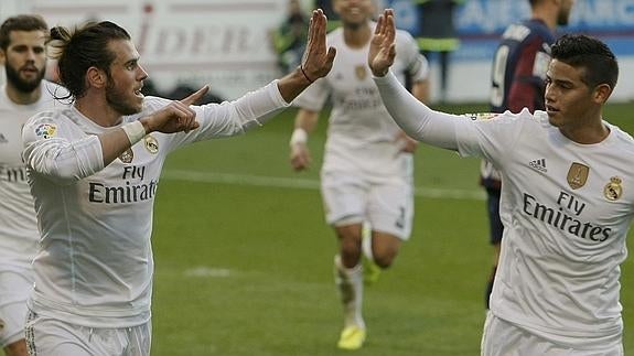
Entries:
[[87, 327], [29, 311], [30, 356], [149, 356], [152, 324], [118, 328]]

